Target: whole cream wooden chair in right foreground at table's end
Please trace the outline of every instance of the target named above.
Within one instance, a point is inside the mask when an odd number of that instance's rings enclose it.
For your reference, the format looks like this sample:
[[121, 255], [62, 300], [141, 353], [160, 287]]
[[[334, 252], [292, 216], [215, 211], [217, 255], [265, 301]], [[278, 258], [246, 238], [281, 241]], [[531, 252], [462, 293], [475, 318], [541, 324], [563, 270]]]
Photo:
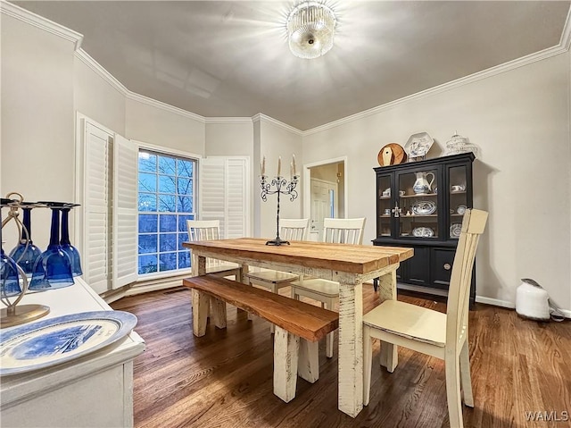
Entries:
[[[363, 316], [363, 401], [370, 399], [372, 340], [444, 360], [450, 426], [462, 427], [462, 404], [474, 407], [468, 355], [468, 297], [472, 268], [488, 213], [466, 210], [452, 264], [446, 314], [398, 300], [385, 300]], [[387, 367], [393, 367], [392, 364]], [[389, 371], [392, 371], [389, 370]]]

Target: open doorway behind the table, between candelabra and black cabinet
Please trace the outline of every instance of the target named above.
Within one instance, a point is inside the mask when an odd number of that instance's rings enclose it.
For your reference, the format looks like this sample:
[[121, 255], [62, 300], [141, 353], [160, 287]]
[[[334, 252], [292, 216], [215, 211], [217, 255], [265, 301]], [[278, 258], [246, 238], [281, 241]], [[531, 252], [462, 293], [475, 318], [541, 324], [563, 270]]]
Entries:
[[308, 239], [323, 240], [323, 219], [345, 218], [345, 158], [304, 165], [303, 212], [310, 217]]

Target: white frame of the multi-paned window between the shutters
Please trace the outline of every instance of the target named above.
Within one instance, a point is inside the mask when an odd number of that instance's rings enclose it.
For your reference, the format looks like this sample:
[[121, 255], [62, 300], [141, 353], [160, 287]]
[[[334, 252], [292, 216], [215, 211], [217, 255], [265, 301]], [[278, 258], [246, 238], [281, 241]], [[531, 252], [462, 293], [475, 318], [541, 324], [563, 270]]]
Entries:
[[[167, 155], [167, 156], [173, 156], [176, 158], [185, 158], [186, 160], [190, 160], [190, 161], [194, 161], [194, 171], [193, 171], [193, 197], [194, 197], [194, 212], [192, 214], [194, 214], [194, 218], [198, 218], [198, 214], [199, 214], [199, 168], [200, 168], [200, 161], [202, 159], [203, 156], [201, 155], [196, 155], [194, 153], [190, 153], [190, 152], [186, 152], [183, 150], [177, 150], [177, 149], [173, 149], [173, 148], [169, 148], [169, 147], [162, 147], [162, 146], [156, 146], [153, 144], [149, 144], [149, 143], [145, 143], [143, 141], [137, 141], [135, 139], [131, 140], [134, 144], [137, 145], [137, 152], [140, 153], [141, 150], [143, 151], [149, 151], [149, 152], [153, 152], [153, 154], [155, 155]], [[137, 162], [137, 183], [138, 183], [138, 174], [139, 174], [139, 168], [138, 168], [138, 162]], [[158, 174], [157, 174], [158, 175]], [[157, 195], [159, 194], [159, 189], [156, 189], [155, 192]], [[139, 190], [137, 187], [137, 201], [138, 201], [138, 196], [139, 196]], [[158, 206], [157, 206], [158, 209]], [[139, 225], [139, 221], [138, 221], [138, 216], [139, 214], [146, 214], [147, 212], [143, 212], [143, 211], [139, 211], [138, 210], [138, 204], [137, 204], [137, 248], [138, 248], [138, 239], [139, 239], [139, 231], [138, 231], [138, 225]], [[157, 216], [161, 215], [160, 211], [151, 211], [148, 212], [148, 214], [156, 214]], [[167, 212], [162, 213], [162, 214], [168, 214]], [[174, 214], [177, 215], [177, 214]], [[178, 216], [178, 215], [177, 215]], [[177, 226], [178, 227], [178, 226]], [[160, 251], [160, 218], [157, 217], [157, 231], [156, 231], [156, 235], [157, 235], [157, 252], [155, 253], [157, 255], [157, 257], [160, 256], [161, 251]], [[178, 235], [178, 231], [177, 231], [177, 235]], [[177, 239], [177, 255], [178, 255], [178, 239]], [[188, 268], [183, 268], [183, 269], [174, 269], [174, 270], [170, 270], [170, 271], [157, 271], [157, 272], [153, 272], [153, 273], [138, 273], [138, 260], [139, 260], [139, 253], [137, 250], [137, 282], [145, 282], [145, 281], [150, 281], [150, 280], [156, 280], [156, 279], [162, 279], [162, 278], [170, 278], [170, 277], [177, 277], [179, 275], [183, 275], [183, 274], [190, 274], [192, 272], [192, 259], [191, 259], [191, 266], [189, 266]], [[191, 256], [192, 257], [192, 256]]]

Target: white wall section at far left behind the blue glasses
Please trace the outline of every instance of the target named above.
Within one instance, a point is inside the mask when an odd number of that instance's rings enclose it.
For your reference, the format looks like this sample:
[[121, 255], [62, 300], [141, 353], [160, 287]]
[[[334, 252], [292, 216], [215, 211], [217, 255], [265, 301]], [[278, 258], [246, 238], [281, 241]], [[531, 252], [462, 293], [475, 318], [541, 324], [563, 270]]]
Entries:
[[[2, 188], [27, 200], [74, 197], [74, 43], [4, 13], [2, 38]], [[5, 214], [5, 213], [4, 213]], [[50, 215], [32, 214], [34, 242], [45, 248]], [[17, 239], [6, 228], [5, 249]]]

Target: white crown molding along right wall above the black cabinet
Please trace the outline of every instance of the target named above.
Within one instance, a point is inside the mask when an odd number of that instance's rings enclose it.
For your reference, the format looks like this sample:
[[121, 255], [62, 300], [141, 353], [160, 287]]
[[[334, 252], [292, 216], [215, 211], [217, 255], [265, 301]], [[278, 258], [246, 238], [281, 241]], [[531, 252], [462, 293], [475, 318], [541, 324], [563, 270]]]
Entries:
[[408, 97], [402, 97], [397, 100], [391, 101], [389, 103], [385, 103], [384, 105], [377, 105], [377, 107], [370, 108], [360, 113], [352, 114], [351, 116], [343, 117], [343, 119], [339, 119], [338, 121], [329, 122], [324, 125], [320, 125], [315, 128], [311, 128], [310, 130], [302, 131], [303, 137], [321, 132], [323, 130], [329, 130], [331, 128], [335, 128], [336, 126], [343, 125], [344, 123], [349, 123], [353, 121], [357, 121], [359, 119], [363, 119], [365, 117], [371, 116], [373, 114], [377, 114], [383, 112], [385, 110], [392, 109], [396, 105], [401, 105], [403, 103], [408, 103], [409, 101], [413, 101], [416, 99], [421, 99], [424, 97], [429, 97], [435, 94], [439, 94], [441, 92], [445, 92], [447, 90], [451, 90], [453, 88], [459, 88], [464, 85], [468, 85], [470, 83], [474, 83], [478, 80], [488, 79], [492, 76], [496, 76], [506, 71], [516, 70], [519, 67], [523, 67], [525, 65], [529, 65], [531, 63], [536, 63], [538, 61], [542, 61], [544, 59], [550, 58], [551, 56], [563, 54], [569, 50], [569, 46], [571, 45], [571, 9], [567, 14], [567, 21], [565, 24], [564, 31], [561, 35], [561, 40], [558, 46], [548, 47], [543, 49], [542, 51], [536, 52], [534, 54], [525, 55], [521, 58], [517, 58], [513, 61], [509, 61], [508, 63], [502, 63], [500, 65], [496, 65], [492, 68], [489, 68], [484, 71], [478, 71], [474, 74], [470, 74], [466, 77], [459, 78], [457, 80], [451, 80], [447, 83], [443, 83], [442, 85], [435, 86], [434, 88], [429, 88], [423, 90], [421, 92], [417, 92], [416, 94], [412, 94]]

